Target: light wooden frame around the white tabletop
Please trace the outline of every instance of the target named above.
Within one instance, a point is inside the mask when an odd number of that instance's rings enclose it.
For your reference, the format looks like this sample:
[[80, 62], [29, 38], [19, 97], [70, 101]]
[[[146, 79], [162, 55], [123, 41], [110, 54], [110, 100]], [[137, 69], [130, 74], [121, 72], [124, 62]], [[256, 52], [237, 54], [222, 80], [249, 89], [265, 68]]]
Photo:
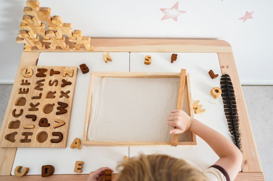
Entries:
[[[264, 180], [261, 163], [258, 156], [257, 147], [254, 141], [250, 120], [246, 104], [244, 101], [241, 83], [238, 77], [236, 64], [230, 44], [223, 40], [183, 40], [183, 39], [122, 39], [122, 38], [96, 38], [91, 39], [94, 46], [94, 52], [206, 52], [217, 53], [222, 74], [228, 73], [232, 79], [236, 101], [238, 105], [238, 115], [240, 117], [240, 128], [242, 134], [242, 145], [245, 148], [243, 152], [242, 172], [238, 174], [235, 180]], [[56, 49], [58, 52], [69, 52]], [[55, 51], [55, 52], [56, 52]], [[86, 50], [80, 49], [85, 52]], [[40, 50], [33, 49], [32, 52], [22, 52], [15, 81], [19, 79], [19, 70], [23, 65], [36, 65]], [[46, 50], [45, 52], [51, 52]], [[11, 95], [15, 92], [15, 86], [12, 88]], [[11, 100], [8, 102], [7, 110], [11, 107]], [[5, 114], [5, 117], [7, 114]], [[0, 158], [0, 179], [13, 180], [10, 176], [13, 161], [17, 148], [0, 148], [2, 157]], [[253, 152], [256, 154], [253, 155]], [[6, 175], [6, 176], [5, 176]], [[69, 176], [69, 177], [67, 177]], [[58, 178], [66, 180], [74, 175], [53, 175], [52, 180]], [[87, 175], [75, 175], [77, 179], [85, 180]], [[40, 176], [25, 176], [29, 179], [39, 179]], [[27, 179], [23, 178], [23, 179]]]

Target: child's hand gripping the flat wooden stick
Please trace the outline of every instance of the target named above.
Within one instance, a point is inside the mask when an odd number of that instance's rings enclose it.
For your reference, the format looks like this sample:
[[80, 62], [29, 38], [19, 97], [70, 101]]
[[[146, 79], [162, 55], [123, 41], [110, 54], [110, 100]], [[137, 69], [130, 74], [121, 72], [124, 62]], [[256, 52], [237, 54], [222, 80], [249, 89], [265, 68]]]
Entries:
[[176, 127], [176, 129], [170, 130], [169, 134], [181, 134], [190, 130], [192, 118], [186, 112], [174, 109], [171, 111], [167, 121], [169, 126]]

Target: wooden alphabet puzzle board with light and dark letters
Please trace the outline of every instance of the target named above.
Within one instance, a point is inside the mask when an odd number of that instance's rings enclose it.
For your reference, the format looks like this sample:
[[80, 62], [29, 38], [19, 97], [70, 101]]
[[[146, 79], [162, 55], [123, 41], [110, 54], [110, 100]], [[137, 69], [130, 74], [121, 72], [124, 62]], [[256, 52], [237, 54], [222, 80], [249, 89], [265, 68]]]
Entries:
[[66, 147], [78, 68], [23, 66], [0, 147]]

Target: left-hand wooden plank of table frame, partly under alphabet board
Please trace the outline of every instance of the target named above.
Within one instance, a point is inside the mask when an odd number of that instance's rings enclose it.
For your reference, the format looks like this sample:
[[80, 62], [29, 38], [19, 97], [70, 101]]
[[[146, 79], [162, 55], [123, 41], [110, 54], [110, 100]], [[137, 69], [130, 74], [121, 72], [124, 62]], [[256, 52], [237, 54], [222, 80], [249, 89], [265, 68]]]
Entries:
[[[19, 66], [17, 69], [17, 73], [15, 76], [15, 81], [19, 79], [22, 66], [25, 65], [36, 65], [36, 61], [38, 60], [39, 52], [22, 52], [22, 56], [19, 62]], [[17, 86], [12, 86], [12, 91], [9, 97], [7, 110], [9, 110], [12, 106], [12, 96], [18, 91]], [[5, 114], [4, 120], [8, 118], [8, 114]], [[12, 171], [13, 162], [15, 159], [17, 148], [0, 148], [0, 175], [10, 175]]]

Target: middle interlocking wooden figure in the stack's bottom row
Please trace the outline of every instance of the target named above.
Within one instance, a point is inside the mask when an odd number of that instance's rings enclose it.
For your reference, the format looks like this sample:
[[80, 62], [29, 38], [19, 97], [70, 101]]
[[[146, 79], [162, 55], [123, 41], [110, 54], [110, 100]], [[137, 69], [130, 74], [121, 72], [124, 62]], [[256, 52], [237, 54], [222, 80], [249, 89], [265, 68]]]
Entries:
[[56, 47], [61, 47], [62, 50], [69, 50], [69, 45], [65, 42], [65, 37], [62, 37], [61, 39], [56, 39], [56, 32], [53, 30], [47, 30], [45, 33], [45, 36], [49, 39], [43, 39], [43, 42], [48, 42], [49, 44], [49, 50], [56, 50]]

